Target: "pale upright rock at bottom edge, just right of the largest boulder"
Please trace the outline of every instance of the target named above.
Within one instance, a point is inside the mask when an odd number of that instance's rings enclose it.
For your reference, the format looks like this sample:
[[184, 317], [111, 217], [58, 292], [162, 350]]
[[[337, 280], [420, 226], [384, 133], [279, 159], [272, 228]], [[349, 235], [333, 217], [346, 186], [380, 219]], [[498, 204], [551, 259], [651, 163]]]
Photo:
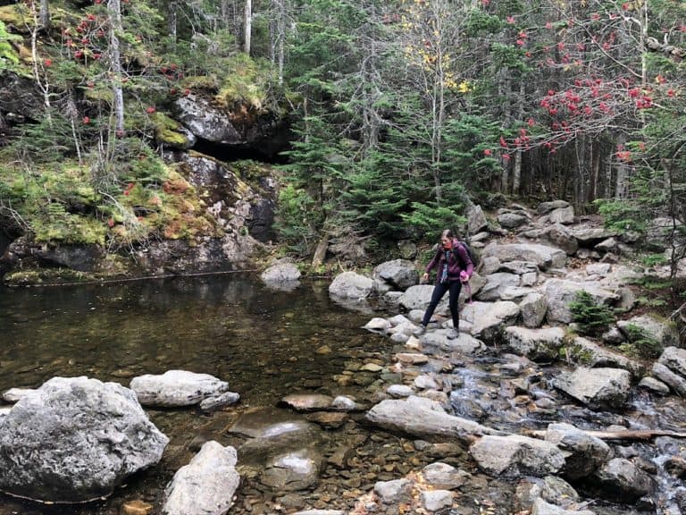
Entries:
[[240, 484], [236, 450], [206, 442], [164, 490], [164, 515], [224, 515]]

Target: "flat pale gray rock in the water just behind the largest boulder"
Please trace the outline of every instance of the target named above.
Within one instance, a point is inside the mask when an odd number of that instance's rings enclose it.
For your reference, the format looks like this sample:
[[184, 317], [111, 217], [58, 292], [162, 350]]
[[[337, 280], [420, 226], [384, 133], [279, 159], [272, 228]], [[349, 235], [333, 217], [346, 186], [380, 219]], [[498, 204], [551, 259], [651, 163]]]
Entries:
[[168, 370], [161, 376], [146, 374], [131, 379], [130, 389], [143, 406], [193, 406], [229, 390], [229, 384], [209, 374]]

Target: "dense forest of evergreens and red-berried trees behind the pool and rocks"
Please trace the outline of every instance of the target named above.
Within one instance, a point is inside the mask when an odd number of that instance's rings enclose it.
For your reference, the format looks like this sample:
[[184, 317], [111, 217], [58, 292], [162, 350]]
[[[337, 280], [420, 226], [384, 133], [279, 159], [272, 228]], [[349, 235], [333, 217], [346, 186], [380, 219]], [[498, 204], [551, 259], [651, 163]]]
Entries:
[[[159, 152], [171, 102], [205, 95], [289, 119], [272, 165], [298, 254], [326, 233], [430, 238], [470, 199], [564, 198], [622, 232], [670, 218], [683, 257], [682, 0], [2, 4], [0, 72], [42, 93], [29, 122], [0, 119], [6, 231], [126, 247], [206, 230], [169, 224], [184, 199]], [[79, 203], [97, 216], [77, 223]]]

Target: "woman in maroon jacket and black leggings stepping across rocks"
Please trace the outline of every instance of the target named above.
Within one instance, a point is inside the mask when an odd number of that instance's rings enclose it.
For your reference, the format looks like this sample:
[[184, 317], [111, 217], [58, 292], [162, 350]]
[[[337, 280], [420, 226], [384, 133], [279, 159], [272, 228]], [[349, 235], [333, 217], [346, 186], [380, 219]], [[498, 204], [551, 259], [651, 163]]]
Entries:
[[422, 275], [424, 282], [428, 281], [429, 273], [433, 268], [437, 268], [436, 285], [433, 287], [431, 293], [431, 302], [426, 308], [424, 317], [422, 318], [422, 325], [419, 333], [426, 330], [426, 326], [431, 322], [433, 311], [439, 305], [440, 300], [446, 291], [450, 291], [450, 314], [453, 317], [453, 329], [448, 333], [448, 338], [456, 338], [460, 330], [460, 313], [457, 307], [457, 300], [460, 297], [460, 290], [462, 283], [467, 283], [472, 277], [474, 265], [472, 259], [469, 258], [469, 253], [464, 249], [464, 246], [458, 241], [450, 229], [446, 229], [440, 234], [440, 247], [436, 251], [436, 255], [431, 259], [429, 265], [426, 266], [426, 271]]

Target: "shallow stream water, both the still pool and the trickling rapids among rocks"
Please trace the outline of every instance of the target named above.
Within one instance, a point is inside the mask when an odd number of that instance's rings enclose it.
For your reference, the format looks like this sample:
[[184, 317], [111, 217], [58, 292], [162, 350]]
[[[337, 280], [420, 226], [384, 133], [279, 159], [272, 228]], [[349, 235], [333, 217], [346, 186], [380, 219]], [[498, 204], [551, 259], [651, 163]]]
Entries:
[[[130, 378], [184, 369], [217, 376], [240, 393], [237, 406], [213, 413], [197, 409], [147, 409], [170, 437], [163, 460], [130, 477], [113, 496], [82, 505], [42, 505], [0, 494], [0, 515], [118, 515], [125, 502], [142, 500], [159, 512], [164, 485], [207, 440], [239, 446], [244, 441], [230, 426], [247, 413], [303, 417], [281, 408], [289, 393], [348, 395], [370, 406], [401, 376], [389, 370], [402, 348], [361, 327], [370, 313], [330, 300], [328, 282], [305, 281], [290, 291], [274, 290], [249, 274], [134, 281], [29, 289], [0, 288], [0, 390], [37, 387], [54, 376], [89, 376], [128, 385]], [[536, 365], [490, 349], [480, 358], [454, 359], [450, 405], [455, 414], [511, 433], [569, 422], [583, 429], [608, 426], [663, 427], [679, 430], [681, 399], [637, 393], [622, 414], [582, 408], [550, 387], [559, 367]], [[367, 370], [378, 365], [381, 371]], [[439, 367], [431, 363], [431, 367]], [[561, 367], [564, 367], [562, 365]], [[526, 377], [535, 384], [530, 396], [512, 387]], [[304, 509], [349, 510], [377, 481], [443, 461], [468, 471], [460, 509], [450, 515], [513, 513], [515, 485], [488, 477], [457, 445], [428, 445], [390, 435], [353, 414], [339, 426], [325, 426], [327, 466], [318, 485], [297, 492], [274, 492], [245, 468], [230, 513], [289, 513]], [[636, 454], [655, 468], [658, 504], [632, 507], [592, 502], [598, 514], [676, 513], [674, 493], [682, 480], [665, 475], [665, 457], [678, 447], [628, 444], [619, 452]], [[658, 451], [659, 450], [659, 451]], [[341, 458], [344, 456], [344, 458]], [[240, 455], [239, 455], [239, 463]], [[239, 471], [241, 470], [238, 468]], [[243, 474], [242, 474], [243, 475]], [[448, 513], [448, 512], [447, 512]]]

